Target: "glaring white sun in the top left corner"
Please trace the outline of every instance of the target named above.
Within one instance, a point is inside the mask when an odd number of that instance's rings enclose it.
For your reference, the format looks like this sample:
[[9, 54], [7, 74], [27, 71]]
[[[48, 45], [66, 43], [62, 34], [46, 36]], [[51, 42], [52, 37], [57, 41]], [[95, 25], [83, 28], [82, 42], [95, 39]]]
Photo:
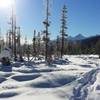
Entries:
[[13, 3], [14, 0], [0, 0], [0, 8], [9, 8]]

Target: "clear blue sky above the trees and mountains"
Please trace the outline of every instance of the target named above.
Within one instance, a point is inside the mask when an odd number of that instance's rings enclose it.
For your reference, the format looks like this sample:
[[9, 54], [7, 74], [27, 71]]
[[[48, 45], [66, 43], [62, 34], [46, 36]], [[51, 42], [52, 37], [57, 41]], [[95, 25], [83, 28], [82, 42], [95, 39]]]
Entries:
[[[50, 37], [56, 38], [60, 31], [61, 8], [66, 4], [67, 33], [75, 36], [79, 33], [85, 36], [100, 34], [100, 0], [52, 0]], [[0, 9], [0, 27], [6, 33], [9, 25], [10, 10]], [[22, 35], [32, 38], [33, 30], [44, 29], [43, 0], [16, 0], [17, 25], [21, 27]]]

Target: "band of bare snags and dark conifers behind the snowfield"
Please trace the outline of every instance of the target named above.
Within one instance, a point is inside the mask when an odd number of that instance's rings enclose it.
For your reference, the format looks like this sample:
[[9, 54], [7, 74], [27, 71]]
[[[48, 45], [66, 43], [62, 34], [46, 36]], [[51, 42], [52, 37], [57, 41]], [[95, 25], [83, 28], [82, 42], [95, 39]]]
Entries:
[[[46, 18], [43, 21], [44, 30], [38, 32], [34, 30], [32, 44], [28, 43], [27, 37], [24, 44], [21, 44], [21, 29], [16, 25], [16, 16], [12, 10], [10, 18], [11, 29], [6, 34], [6, 42], [1, 38], [0, 50], [6, 44], [12, 50], [12, 57], [15, 61], [24, 61], [23, 57], [27, 57], [28, 61], [33, 58], [41, 59], [45, 57], [45, 61], [50, 64], [53, 58], [63, 58], [63, 55], [69, 54], [99, 54], [100, 55], [100, 39], [95, 44], [84, 45], [81, 41], [68, 41], [67, 34], [67, 6], [64, 5], [61, 10], [61, 27], [60, 33], [56, 40], [51, 40], [49, 35], [50, 27], [50, 12], [49, 0], [46, 0]], [[100, 57], [100, 56], [99, 56]]]

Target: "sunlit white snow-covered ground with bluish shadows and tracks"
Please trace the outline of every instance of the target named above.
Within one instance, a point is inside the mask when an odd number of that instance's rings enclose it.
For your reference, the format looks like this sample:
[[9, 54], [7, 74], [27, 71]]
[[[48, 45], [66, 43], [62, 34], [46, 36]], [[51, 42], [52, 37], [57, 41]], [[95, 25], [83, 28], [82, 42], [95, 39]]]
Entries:
[[0, 71], [0, 100], [99, 100], [100, 60], [97, 55], [65, 56], [66, 61], [12, 64]]

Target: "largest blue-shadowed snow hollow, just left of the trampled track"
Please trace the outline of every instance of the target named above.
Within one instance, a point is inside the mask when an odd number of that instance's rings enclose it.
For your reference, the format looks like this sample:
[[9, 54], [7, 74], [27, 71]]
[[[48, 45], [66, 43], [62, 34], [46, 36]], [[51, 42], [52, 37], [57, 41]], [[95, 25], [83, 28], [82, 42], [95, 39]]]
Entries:
[[69, 84], [75, 80], [76, 80], [75, 76], [63, 76], [51, 79], [46, 78], [44, 80], [40, 80], [38, 83], [31, 84], [31, 86], [35, 88], [56, 88]]

